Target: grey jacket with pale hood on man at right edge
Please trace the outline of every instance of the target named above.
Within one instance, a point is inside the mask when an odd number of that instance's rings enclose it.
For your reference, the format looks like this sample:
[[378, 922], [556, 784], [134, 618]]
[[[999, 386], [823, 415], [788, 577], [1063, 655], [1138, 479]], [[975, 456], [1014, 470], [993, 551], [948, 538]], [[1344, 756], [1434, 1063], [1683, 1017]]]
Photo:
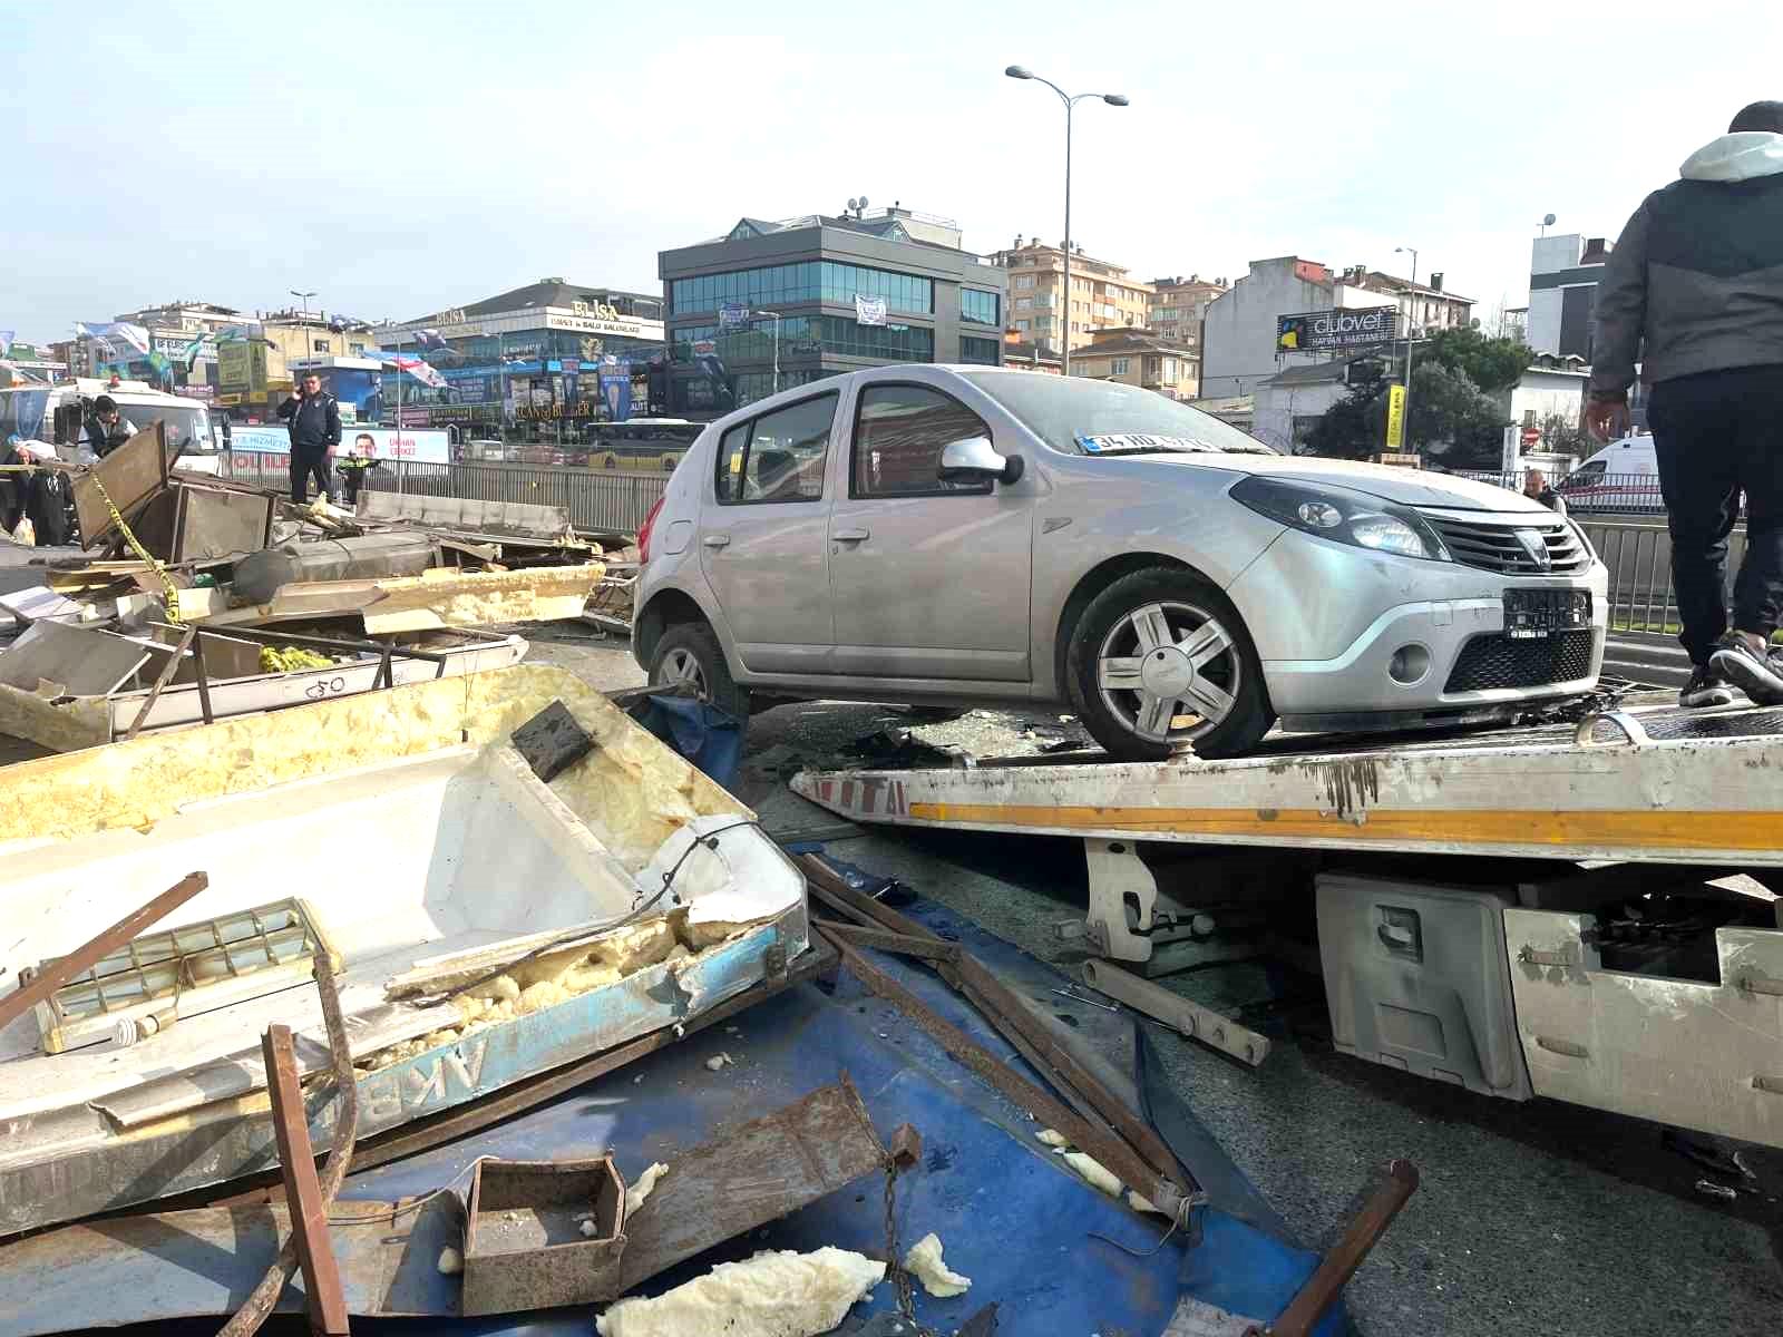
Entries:
[[1635, 380], [1783, 365], [1783, 134], [1744, 130], [1699, 148], [1649, 194], [1598, 289], [1590, 392]]

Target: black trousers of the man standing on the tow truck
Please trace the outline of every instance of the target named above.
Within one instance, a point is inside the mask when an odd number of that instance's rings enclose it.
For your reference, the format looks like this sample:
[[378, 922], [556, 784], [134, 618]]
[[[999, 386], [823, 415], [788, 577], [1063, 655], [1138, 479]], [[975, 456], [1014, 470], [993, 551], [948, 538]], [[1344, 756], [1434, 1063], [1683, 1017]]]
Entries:
[[1694, 663], [1728, 629], [1728, 535], [1746, 494], [1733, 626], [1769, 638], [1783, 604], [1783, 365], [1680, 376], [1647, 401], [1672, 540], [1672, 590]]

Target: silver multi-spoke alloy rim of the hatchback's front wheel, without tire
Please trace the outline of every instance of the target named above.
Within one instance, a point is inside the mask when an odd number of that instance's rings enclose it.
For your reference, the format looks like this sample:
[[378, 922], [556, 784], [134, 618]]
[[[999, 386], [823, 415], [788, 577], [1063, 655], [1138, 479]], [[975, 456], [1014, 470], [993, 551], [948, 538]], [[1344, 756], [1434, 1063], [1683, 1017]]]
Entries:
[[1154, 743], [1216, 729], [1237, 704], [1243, 674], [1245, 660], [1220, 619], [1177, 601], [1134, 608], [1097, 651], [1102, 704]]

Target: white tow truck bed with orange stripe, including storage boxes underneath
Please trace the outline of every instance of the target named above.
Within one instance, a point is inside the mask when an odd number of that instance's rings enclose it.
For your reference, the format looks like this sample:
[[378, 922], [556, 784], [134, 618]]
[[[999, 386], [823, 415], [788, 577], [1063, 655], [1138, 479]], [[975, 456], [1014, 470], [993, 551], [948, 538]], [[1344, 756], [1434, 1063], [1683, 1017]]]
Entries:
[[[1348, 852], [1312, 859], [1337, 1048], [1783, 1146], [1783, 900], [1717, 877], [1783, 868], [1783, 710], [1631, 704], [1467, 736], [1278, 740], [1234, 761], [1095, 756], [806, 772], [792, 788], [850, 822], [1084, 840], [1080, 932], [1138, 973], [1163, 943], [1243, 918], [1232, 904], [1259, 886], [1228, 850], [1161, 888], [1159, 847]], [[1530, 859], [1558, 893], [1526, 881]], [[1626, 907], [1671, 877], [1640, 865], [1689, 865], [1676, 881], [1737, 922], [1705, 927], [1690, 959], [1630, 952]], [[1225, 909], [1202, 915], [1211, 902]]]

